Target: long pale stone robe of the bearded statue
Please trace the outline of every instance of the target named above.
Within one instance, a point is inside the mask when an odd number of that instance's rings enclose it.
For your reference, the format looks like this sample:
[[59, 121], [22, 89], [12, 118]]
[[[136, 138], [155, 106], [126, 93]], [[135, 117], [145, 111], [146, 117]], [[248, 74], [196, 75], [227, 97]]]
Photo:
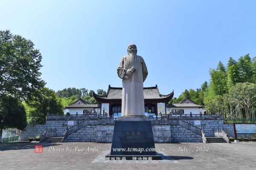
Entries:
[[[132, 67], [134, 74], [125, 79], [126, 71]], [[143, 82], [148, 70], [144, 59], [132, 54], [122, 57], [117, 74], [122, 79], [122, 116], [145, 116]]]

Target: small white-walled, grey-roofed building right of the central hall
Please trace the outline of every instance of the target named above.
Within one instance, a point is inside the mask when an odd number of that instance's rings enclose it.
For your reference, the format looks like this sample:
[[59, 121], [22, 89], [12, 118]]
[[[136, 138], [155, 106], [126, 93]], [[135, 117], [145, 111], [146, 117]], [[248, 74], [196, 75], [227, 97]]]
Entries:
[[181, 102], [176, 104], [168, 104], [166, 105], [167, 111], [172, 114], [204, 114], [206, 110], [203, 109], [203, 106], [196, 104], [191, 99], [186, 97]]

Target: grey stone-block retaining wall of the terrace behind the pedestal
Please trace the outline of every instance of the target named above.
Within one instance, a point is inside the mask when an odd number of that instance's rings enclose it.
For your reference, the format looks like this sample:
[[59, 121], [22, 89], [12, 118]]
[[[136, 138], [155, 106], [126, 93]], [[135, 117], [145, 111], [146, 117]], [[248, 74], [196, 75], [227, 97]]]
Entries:
[[[189, 122], [189, 120], [185, 120]], [[194, 120], [190, 120], [192, 125], [195, 125]], [[77, 121], [74, 120], [74, 125]], [[46, 128], [56, 129], [56, 136], [63, 136], [67, 127], [67, 120], [48, 120], [45, 125], [28, 125], [26, 130], [21, 133], [21, 141], [28, 141], [29, 137], [36, 137], [38, 134], [42, 135]], [[201, 120], [201, 125], [195, 125], [199, 128], [202, 127], [206, 137], [214, 136], [214, 130], [223, 130], [228, 136], [234, 137], [234, 130], [232, 124], [224, 124], [222, 120]], [[98, 142], [98, 143], [111, 143], [113, 138], [113, 124], [106, 125], [87, 125], [86, 127], [77, 130], [67, 137], [67, 142]], [[172, 143], [172, 142], [202, 142], [201, 136], [183, 128], [179, 125], [152, 125], [155, 143]]]

